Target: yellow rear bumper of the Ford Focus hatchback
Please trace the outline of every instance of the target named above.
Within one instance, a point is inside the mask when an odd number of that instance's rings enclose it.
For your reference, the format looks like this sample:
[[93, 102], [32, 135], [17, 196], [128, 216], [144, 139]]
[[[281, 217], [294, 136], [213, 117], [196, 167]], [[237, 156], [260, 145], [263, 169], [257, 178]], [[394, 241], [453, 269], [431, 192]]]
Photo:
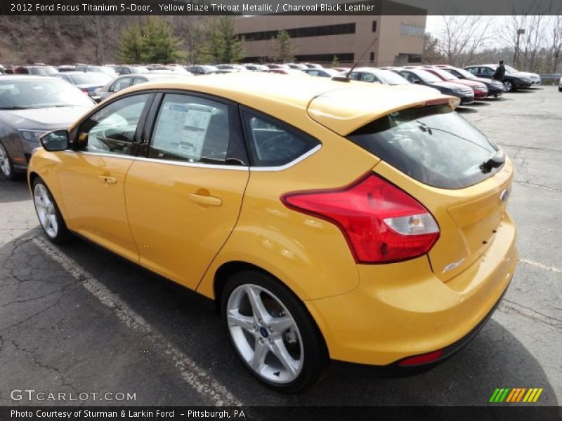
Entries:
[[306, 305], [334, 360], [388, 366], [436, 350], [446, 358], [485, 323], [511, 281], [517, 254], [506, 215], [481, 258], [450, 281], [440, 281], [427, 258], [359, 265], [358, 288]]

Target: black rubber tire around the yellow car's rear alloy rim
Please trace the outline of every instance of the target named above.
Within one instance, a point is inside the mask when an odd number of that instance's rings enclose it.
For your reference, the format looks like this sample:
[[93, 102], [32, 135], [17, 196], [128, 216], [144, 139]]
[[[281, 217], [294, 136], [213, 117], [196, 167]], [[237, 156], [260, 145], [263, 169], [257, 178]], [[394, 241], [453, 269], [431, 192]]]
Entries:
[[[230, 326], [226, 315], [230, 296], [233, 295], [233, 292], [235, 292], [237, 288], [240, 290], [239, 287], [241, 286], [258, 286], [263, 288], [266, 290], [263, 291], [266, 298], [268, 293], [273, 293], [273, 295], [275, 295], [275, 297], [273, 297], [274, 300], [275, 298], [280, 300], [282, 305], [284, 305], [288, 310], [289, 316], [291, 316], [294, 320], [296, 327], [298, 328], [303, 350], [301, 370], [294, 380], [285, 383], [268, 380], [266, 377], [256, 373], [256, 370], [251, 368], [249, 363], [242, 356], [240, 350], [237, 348], [233, 335], [230, 332]], [[301, 302], [301, 300], [299, 300], [299, 298], [297, 298], [296, 295], [289, 290], [289, 288], [273, 276], [251, 269], [236, 272], [230, 276], [226, 286], [224, 287], [223, 293], [221, 294], [221, 314], [228, 339], [230, 340], [230, 345], [232, 345], [235, 353], [240, 357], [240, 361], [242, 361], [244, 366], [246, 366], [254, 377], [271, 389], [282, 393], [301, 392], [317, 384], [327, 372], [327, 368], [329, 367], [329, 354], [325, 340], [322, 338], [322, 334], [320, 333], [318, 326], [312, 316], [308, 313], [308, 310], [305, 305], [303, 305], [303, 302]], [[256, 335], [259, 335], [259, 330], [256, 331]], [[299, 349], [301, 349], [300, 345]]]

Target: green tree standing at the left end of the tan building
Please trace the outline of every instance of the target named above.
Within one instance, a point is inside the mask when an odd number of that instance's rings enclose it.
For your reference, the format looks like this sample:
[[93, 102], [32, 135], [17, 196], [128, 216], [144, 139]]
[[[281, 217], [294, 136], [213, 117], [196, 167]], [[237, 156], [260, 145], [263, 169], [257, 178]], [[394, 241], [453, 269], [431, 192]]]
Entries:
[[202, 48], [208, 62], [235, 63], [246, 56], [244, 38], [237, 36], [233, 16], [217, 16], [209, 21], [209, 37]]

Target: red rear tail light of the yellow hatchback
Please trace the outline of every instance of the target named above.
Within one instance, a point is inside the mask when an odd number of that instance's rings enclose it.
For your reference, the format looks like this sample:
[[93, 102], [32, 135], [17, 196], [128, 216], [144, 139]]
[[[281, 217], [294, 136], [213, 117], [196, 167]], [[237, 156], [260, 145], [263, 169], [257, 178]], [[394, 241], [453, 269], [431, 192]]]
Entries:
[[436, 220], [421, 203], [374, 174], [341, 189], [289, 193], [281, 200], [337, 225], [358, 263], [417, 258], [439, 238]]

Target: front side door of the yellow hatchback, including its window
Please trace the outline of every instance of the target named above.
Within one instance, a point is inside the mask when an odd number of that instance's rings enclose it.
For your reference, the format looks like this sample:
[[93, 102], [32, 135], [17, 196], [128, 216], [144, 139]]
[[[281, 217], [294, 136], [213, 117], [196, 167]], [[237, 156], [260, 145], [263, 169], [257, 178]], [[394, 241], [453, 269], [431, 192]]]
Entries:
[[138, 260], [138, 252], [124, 182], [153, 96], [129, 95], [91, 114], [77, 128], [80, 146], [60, 154], [57, 167], [68, 227], [131, 260]]

